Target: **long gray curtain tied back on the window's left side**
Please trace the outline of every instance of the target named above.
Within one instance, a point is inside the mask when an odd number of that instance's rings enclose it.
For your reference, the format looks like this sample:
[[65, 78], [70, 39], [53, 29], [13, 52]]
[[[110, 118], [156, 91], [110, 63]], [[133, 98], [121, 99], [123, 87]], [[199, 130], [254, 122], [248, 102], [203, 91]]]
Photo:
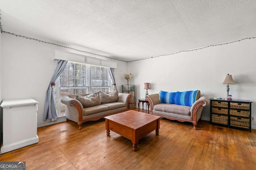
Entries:
[[[68, 61], [64, 61], [64, 60], [57, 61], [57, 66], [55, 68], [54, 74], [52, 75], [48, 90], [45, 95], [44, 121], [46, 119], [49, 119], [50, 121], [54, 121], [57, 118], [57, 112], [56, 112], [55, 101], [54, 101], [56, 100], [56, 96], [54, 99], [53, 92], [55, 90], [53, 89], [55, 89], [55, 82], [57, 78], [60, 76], [60, 74], [62, 73], [62, 71], [64, 70], [67, 63]], [[55, 94], [56, 94], [56, 91], [55, 91]]]

